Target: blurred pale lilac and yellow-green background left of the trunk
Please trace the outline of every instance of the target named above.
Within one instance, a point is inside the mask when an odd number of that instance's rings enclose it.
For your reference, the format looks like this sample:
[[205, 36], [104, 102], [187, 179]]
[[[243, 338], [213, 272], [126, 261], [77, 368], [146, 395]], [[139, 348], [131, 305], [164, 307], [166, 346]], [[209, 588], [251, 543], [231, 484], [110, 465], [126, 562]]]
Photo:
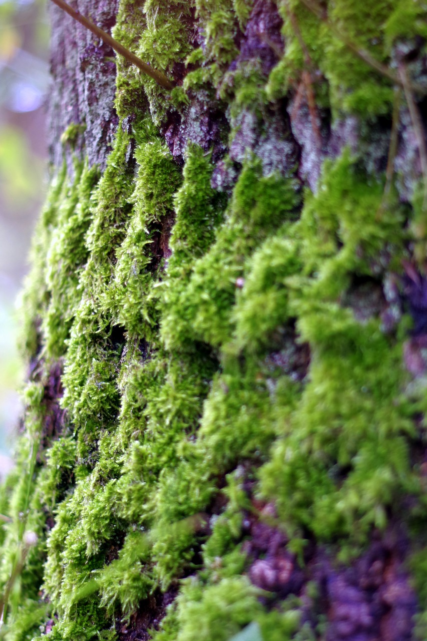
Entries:
[[0, 478], [21, 411], [16, 300], [47, 186], [48, 43], [45, 0], [0, 0]]

